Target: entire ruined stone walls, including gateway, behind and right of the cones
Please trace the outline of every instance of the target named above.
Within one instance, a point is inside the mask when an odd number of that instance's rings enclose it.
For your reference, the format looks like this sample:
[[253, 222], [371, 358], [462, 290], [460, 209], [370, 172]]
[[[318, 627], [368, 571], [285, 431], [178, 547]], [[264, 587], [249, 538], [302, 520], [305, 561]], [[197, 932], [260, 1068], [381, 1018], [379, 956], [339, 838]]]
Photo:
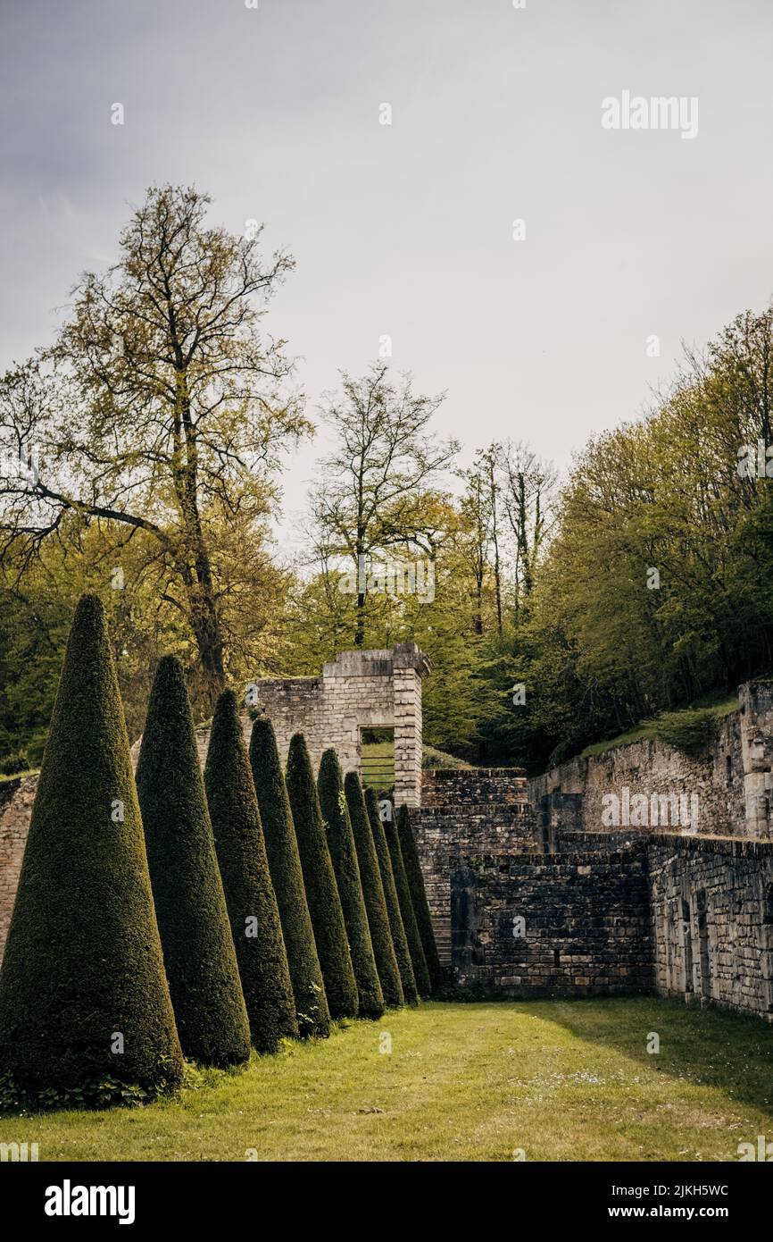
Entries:
[[[362, 730], [395, 730], [395, 801], [411, 807], [449, 980], [515, 999], [655, 991], [773, 1021], [773, 683], [739, 688], [704, 758], [635, 743], [527, 780], [422, 771], [429, 667], [414, 643], [347, 651], [320, 677], [254, 682], [247, 700], [283, 760], [300, 730], [313, 764], [335, 746], [359, 771]], [[203, 763], [207, 728], [197, 743]], [[0, 954], [36, 780], [0, 782]], [[697, 789], [697, 831], [603, 831], [603, 794], [627, 785]]]

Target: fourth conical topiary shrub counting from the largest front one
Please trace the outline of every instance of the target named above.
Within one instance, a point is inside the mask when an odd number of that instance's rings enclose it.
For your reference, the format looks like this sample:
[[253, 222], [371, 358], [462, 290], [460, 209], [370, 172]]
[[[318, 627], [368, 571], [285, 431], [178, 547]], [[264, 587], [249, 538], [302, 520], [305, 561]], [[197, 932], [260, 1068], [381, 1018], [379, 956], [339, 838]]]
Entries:
[[326, 1036], [330, 1033], [328, 997], [314, 941], [277, 739], [267, 717], [258, 717], [252, 727], [249, 763], [263, 822], [268, 867], [282, 919], [298, 1027], [302, 1036]]

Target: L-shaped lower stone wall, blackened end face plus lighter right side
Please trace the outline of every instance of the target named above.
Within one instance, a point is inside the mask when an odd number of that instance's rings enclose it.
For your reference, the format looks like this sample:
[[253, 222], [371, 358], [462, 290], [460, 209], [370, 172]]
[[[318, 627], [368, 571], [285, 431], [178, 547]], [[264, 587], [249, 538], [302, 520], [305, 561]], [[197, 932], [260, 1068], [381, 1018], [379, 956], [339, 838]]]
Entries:
[[773, 1021], [773, 842], [571, 832], [561, 848], [449, 856], [460, 985], [501, 996], [654, 989]]

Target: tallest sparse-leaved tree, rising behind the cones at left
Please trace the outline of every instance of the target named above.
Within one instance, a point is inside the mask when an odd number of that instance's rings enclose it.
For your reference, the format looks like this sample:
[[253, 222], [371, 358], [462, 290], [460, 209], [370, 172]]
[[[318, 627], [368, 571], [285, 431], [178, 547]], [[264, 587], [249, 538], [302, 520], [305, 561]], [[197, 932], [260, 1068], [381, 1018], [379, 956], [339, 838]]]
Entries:
[[261, 332], [293, 260], [264, 261], [257, 236], [207, 219], [210, 204], [194, 186], [151, 186], [115, 262], [71, 291], [56, 344], [0, 376], [0, 448], [34, 445], [46, 479], [2, 487], [12, 554], [25, 565], [68, 520], [124, 543], [141, 532], [143, 570], [156, 605], [185, 621], [205, 698], [222, 689], [235, 614], [263, 609], [273, 474], [280, 448], [310, 430], [284, 390], [284, 343], [264, 348]]

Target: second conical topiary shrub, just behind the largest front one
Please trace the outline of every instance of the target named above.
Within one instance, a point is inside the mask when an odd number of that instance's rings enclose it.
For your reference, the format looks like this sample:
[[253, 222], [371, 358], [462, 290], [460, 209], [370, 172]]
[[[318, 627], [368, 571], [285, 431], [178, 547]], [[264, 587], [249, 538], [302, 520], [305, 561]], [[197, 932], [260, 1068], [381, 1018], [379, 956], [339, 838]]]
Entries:
[[164, 656], [153, 679], [136, 791], [182, 1051], [205, 1066], [239, 1064], [249, 1058], [249, 1022], [175, 656]]

